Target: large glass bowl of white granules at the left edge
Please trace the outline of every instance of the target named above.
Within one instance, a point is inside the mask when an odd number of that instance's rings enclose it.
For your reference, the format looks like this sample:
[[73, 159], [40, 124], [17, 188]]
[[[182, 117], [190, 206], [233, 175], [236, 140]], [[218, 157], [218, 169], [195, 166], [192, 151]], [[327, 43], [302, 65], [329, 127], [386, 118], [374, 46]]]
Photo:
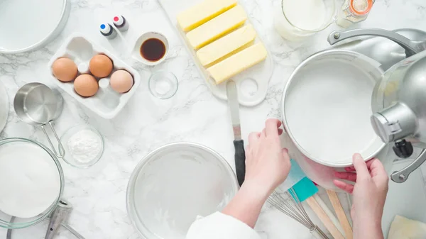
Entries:
[[64, 188], [60, 162], [44, 145], [24, 138], [0, 140], [0, 227], [26, 228], [43, 221]]

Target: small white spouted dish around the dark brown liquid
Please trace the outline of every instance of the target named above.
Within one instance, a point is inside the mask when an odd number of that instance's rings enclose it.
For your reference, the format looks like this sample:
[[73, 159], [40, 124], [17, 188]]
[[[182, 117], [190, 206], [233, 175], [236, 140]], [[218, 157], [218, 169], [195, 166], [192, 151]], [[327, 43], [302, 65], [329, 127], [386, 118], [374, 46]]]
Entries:
[[[141, 56], [141, 45], [142, 45], [142, 43], [144, 43], [146, 40], [151, 39], [151, 38], [157, 38], [158, 40], [161, 40], [164, 43], [164, 46], [165, 46], [164, 56], [161, 57], [160, 60], [157, 60], [155, 62], [146, 60], [145, 58], [143, 58]], [[168, 52], [169, 52], [169, 44], [168, 44], [167, 38], [165, 38], [165, 35], [163, 35], [161, 33], [156, 33], [156, 32], [148, 32], [148, 33], [143, 33], [138, 38], [138, 40], [136, 40], [136, 43], [133, 46], [133, 50], [131, 51], [131, 56], [133, 57], [133, 59], [137, 60], [138, 62], [142, 62], [145, 65], [153, 66], [153, 65], [158, 65], [161, 62], [163, 62], [165, 60], [165, 58], [167, 57]]]

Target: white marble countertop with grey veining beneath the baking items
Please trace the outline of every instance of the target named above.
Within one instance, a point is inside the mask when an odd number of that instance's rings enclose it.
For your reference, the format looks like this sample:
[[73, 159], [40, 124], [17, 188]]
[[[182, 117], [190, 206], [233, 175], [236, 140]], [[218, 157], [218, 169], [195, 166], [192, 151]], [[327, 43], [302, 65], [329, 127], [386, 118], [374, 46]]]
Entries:
[[[106, 143], [102, 159], [92, 168], [75, 169], [61, 162], [65, 171], [64, 198], [74, 206], [70, 225], [86, 238], [140, 238], [131, 226], [125, 203], [133, 167], [151, 150], [177, 141], [207, 145], [233, 162], [228, 107], [211, 94], [182, 44], [171, 46], [168, 60], [163, 64], [146, 67], [130, 59], [127, 52], [130, 44], [126, 42], [132, 39], [109, 41], [97, 31], [98, 23], [107, 21], [111, 14], [121, 13], [128, 18], [131, 30], [160, 30], [169, 38], [177, 39], [156, 0], [71, 0], [71, 3], [67, 26], [53, 43], [32, 52], [0, 55], [0, 81], [5, 84], [11, 102], [17, 89], [28, 82], [43, 82], [53, 87], [47, 63], [63, 40], [76, 31], [87, 34], [140, 72], [141, 87], [113, 120], [100, 118], [69, 95], [62, 94], [65, 108], [55, 123], [59, 134], [76, 124], [88, 123], [99, 129]], [[304, 45], [291, 46], [273, 30], [271, 9], [278, 0], [241, 0], [241, 3], [260, 26], [275, 60], [266, 100], [256, 107], [241, 109], [241, 130], [246, 139], [251, 131], [263, 127], [266, 118], [280, 118], [280, 98], [290, 73], [305, 57], [327, 48], [326, 36], [336, 27], [331, 26]], [[424, 0], [376, 0], [367, 21], [358, 26], [426, 30], [425, 23]], [[147, 89], [149, 74], [158, 70], [169, 70], [178, 76], [180, 86], [172, 100], [155, 99]], [[39, 128], [16, 117], [12, 105], [7, 126], [0, 134], [0, 138], [9, 137], [31, 138], [47, 144]], [[47, 223], [43, 221], [37, 226], [16, 230], [13, 239], [44, 238]], [[263, 209], [256, 230], [263, 232], [264, 238], [311, 238], [305, 228], [268, 207]], [[6, 238], [6, 230], [0, 230], [0, 238]], [[57, 238], [74, 237], [61, 229]]]

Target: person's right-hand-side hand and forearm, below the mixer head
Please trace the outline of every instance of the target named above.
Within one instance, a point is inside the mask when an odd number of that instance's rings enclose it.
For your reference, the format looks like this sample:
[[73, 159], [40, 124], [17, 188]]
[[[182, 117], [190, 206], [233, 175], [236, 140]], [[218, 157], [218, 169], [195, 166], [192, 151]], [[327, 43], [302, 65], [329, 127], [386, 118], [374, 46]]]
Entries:
[[353, 160], [354, 166], [346, 167], [346, 172], [336, 172], [336, 177], [355, 185], [339, 180], [334, 180], [334, 184], [354, 196], [351, 209], [354, 238], [383, 238], [381, 218], [388, 194], [388, 174], [378, 159], [364, 162], [361, 155], [355, 154]]

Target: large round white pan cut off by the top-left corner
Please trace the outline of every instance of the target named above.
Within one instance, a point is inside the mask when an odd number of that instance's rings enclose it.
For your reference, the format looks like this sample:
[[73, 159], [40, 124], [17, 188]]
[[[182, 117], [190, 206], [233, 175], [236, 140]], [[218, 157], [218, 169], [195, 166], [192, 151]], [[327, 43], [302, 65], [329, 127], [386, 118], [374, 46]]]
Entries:
[[40, 48], [64, 28], [70, 0], [1, 0], [0, 53]]

